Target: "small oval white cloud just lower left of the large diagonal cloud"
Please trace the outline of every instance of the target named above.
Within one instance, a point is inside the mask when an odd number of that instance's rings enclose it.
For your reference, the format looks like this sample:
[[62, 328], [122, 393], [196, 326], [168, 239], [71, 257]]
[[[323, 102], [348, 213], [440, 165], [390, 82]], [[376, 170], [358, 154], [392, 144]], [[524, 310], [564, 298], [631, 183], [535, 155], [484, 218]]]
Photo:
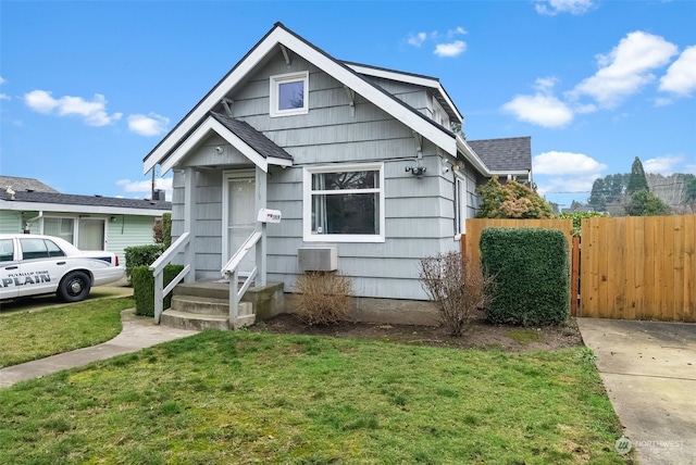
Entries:
[[520, 121], [543, 127], [562, 127], [573, 120], [573, 112], [566, 103], [543, 93], [515, 96], [502, 110]]

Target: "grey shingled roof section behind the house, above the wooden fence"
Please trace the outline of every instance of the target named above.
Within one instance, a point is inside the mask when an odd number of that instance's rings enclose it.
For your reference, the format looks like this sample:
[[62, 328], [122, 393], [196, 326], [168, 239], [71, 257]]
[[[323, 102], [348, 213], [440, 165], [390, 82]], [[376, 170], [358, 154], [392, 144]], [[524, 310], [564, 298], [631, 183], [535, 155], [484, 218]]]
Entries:
[[467, 142], [493, 172], [532, 169], [532, 138], [529, 136]]

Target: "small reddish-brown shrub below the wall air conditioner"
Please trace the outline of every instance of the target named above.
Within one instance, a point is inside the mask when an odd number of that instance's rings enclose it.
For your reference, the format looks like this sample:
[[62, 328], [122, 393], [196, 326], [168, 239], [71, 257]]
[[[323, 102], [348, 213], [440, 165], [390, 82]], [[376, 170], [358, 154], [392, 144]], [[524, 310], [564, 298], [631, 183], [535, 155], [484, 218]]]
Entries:
[[352, 303], [352, 280], [338, 273], [310, 272], [295, 285], [297, 316], [308, 325], [346, 321]]

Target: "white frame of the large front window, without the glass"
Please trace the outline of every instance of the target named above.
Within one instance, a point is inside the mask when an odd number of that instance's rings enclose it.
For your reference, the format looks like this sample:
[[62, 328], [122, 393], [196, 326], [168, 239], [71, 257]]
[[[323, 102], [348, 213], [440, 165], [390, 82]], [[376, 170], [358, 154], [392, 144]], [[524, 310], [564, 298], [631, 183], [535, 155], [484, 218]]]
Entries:
[[[315, 234], [312, 232], [312, 193], [321, 193], [325, 191], [312, 191], [312, 175], [319, 173], [346, 173], [346, 172], [364, 172], [378, 171], [380, 186], [374, 189], [355, 189], [343, 190], [341, 193], [369, 193], [376, 192], [378, 199], [378, 230], [376, 235], [350, 235], [350, 234]], [[384, 163], [369, 164], [337, 164], [328, 166], [312, 166], [303, 169], [302, 179], [302, 212], [303, 212], [303, 240], [306, 242], [384, 242], [385, 240], [385, 212], [384, 212]], [[326, 191], [336, 193], [336, 191]]]

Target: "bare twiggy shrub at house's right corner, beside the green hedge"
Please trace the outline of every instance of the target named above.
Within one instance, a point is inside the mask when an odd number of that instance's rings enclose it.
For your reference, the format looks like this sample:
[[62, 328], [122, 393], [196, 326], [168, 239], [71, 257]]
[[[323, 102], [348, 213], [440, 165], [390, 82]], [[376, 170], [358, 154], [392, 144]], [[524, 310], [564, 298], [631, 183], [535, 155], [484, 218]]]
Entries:
[[490, 300], [493, 278], [461, 253], [421, 259], [419, 278], [452, 336], [463, 335]]

